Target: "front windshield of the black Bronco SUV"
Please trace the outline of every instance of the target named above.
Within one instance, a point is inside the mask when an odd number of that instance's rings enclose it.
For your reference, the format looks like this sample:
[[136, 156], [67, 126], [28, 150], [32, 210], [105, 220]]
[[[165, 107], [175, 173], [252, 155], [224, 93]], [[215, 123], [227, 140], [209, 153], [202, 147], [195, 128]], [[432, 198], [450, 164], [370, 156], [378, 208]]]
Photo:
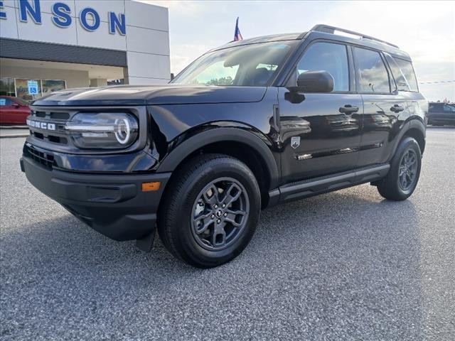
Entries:
[[284, 63], [296, 40], [257, 43], [203, 55], [171, 83], [264, 87]]

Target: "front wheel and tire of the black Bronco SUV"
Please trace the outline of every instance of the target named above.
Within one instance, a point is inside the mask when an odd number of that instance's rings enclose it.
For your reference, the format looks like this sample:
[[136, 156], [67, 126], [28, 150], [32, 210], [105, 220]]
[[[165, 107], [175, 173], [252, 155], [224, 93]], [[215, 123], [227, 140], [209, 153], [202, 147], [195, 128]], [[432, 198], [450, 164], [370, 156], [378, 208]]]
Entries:
[[196, 156], [166, 189], [159, 236], [181, 261], [198, 268], [219, 266], [250, 242], [260, 207], [259, 185], [244, 163], [223, 154]]

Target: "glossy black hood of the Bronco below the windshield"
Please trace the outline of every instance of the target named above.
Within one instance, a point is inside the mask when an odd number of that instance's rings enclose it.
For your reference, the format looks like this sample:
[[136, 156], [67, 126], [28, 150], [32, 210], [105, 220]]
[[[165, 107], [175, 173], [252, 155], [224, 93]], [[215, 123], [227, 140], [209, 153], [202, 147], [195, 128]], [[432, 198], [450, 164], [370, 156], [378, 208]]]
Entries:
[[194, 85], [117, 85], [60, 90], [33, 102], [33, 106], [98, 106], [259, 102], [267, 87]]

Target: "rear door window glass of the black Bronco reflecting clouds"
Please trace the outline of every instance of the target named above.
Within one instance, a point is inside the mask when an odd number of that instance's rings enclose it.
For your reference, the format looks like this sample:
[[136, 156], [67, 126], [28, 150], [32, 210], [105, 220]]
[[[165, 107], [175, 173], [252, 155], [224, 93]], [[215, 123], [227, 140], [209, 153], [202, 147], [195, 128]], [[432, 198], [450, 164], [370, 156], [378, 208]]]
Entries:
[[380, 54], [354, 48], [359, 92], [390, 92], [389, 75]]

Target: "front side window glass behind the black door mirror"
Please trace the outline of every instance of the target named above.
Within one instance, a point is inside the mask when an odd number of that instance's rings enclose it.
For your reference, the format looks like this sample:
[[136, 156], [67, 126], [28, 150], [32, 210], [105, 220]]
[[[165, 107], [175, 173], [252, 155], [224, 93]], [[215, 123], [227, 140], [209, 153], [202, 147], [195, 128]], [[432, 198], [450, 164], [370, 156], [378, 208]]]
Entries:
[[333, 77], [333, 91], [349, 91], [348, 54], [345, 45], [332, 43], [311, 45], [297, 65], [296, 77], [308, 71], [327, 71]]

